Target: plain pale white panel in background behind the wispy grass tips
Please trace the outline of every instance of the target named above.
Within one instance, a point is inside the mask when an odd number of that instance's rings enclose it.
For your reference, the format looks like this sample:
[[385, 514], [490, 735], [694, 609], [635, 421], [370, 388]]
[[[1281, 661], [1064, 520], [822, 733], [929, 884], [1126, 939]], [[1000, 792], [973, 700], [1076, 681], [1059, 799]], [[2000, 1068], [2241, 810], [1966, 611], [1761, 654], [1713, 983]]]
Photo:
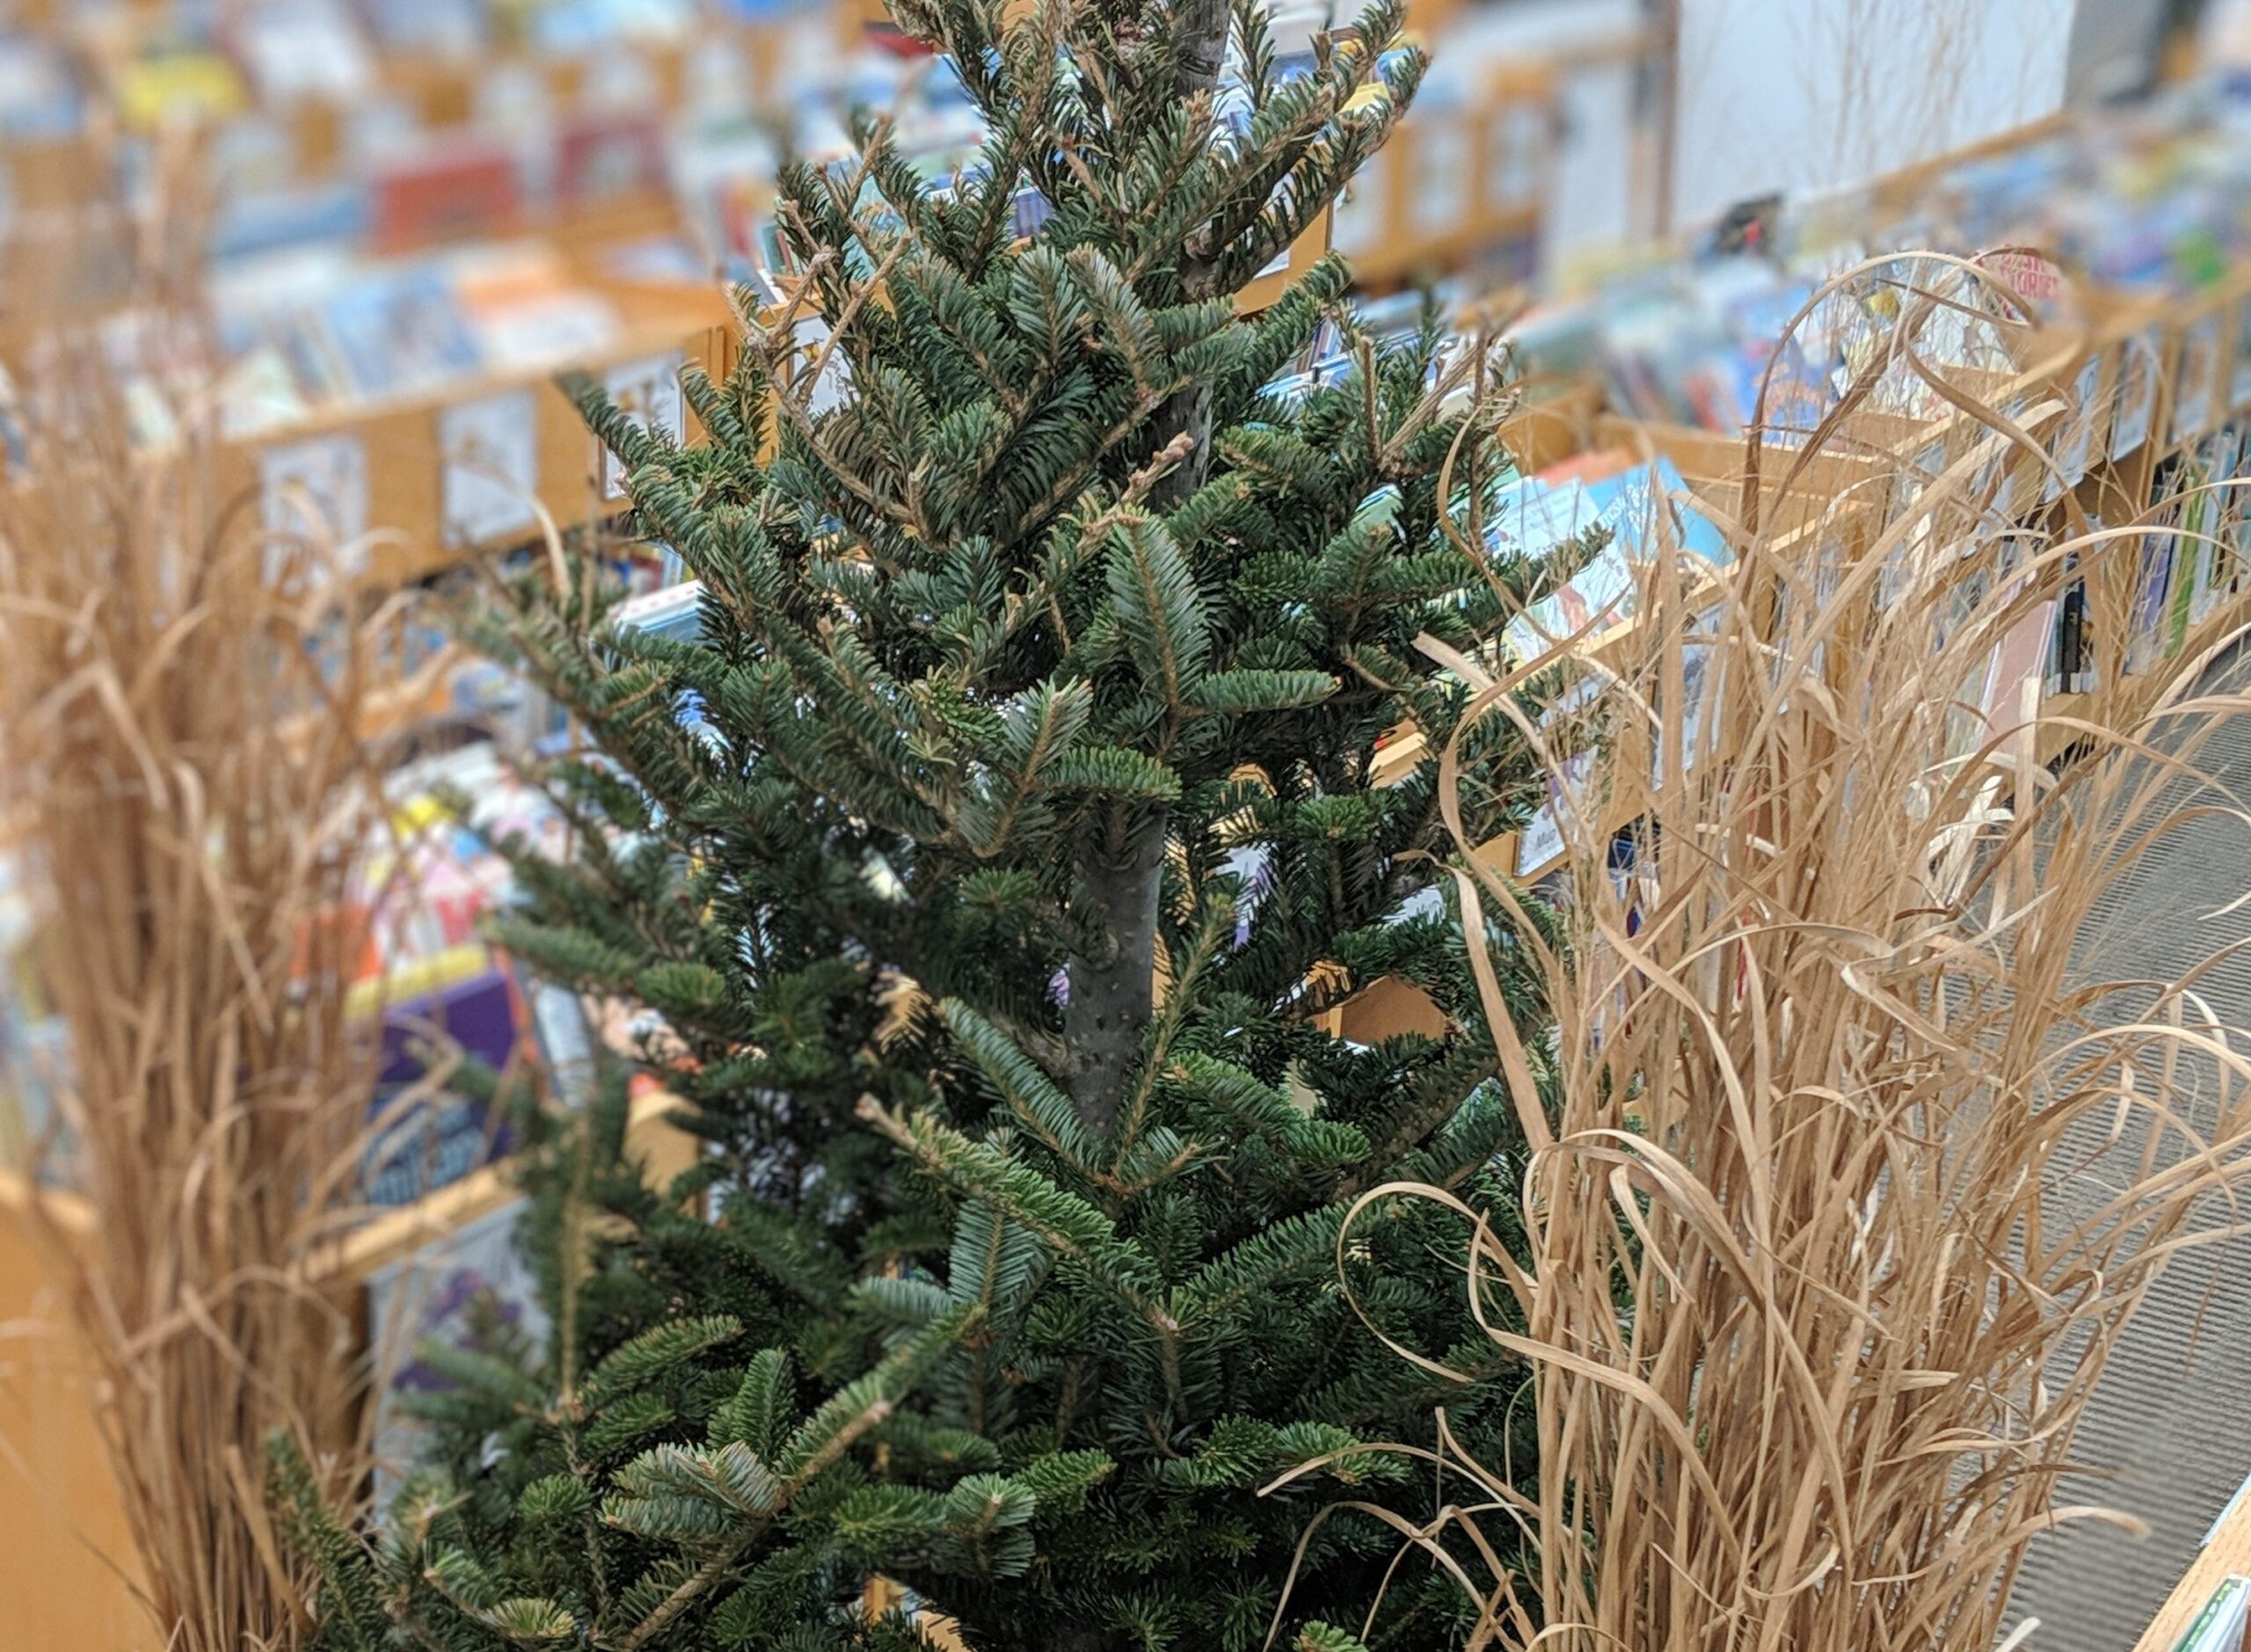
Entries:
[[2073, 0], [1679, 0], [1679, 11], [1677, 225], [1772, 189], [1893, 171], [2064, 97]]

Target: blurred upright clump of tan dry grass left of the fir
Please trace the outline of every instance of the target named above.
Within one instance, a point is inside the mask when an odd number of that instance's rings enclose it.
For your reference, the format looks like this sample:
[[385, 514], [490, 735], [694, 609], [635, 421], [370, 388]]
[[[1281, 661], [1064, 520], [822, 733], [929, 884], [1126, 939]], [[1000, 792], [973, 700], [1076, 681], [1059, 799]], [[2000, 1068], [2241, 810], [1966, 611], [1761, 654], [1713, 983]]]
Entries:
[[0, 493], [0, 817], [68, 1029], [50, 1148], [90, 1220], [32, 1209], [158, 1641], [295, 1645], [263, 1440], [295, 1431], [331, 1494], [365, 1470], [353, 1332], [320, 1269], [376, 1056], [347, 1017], [367, 659], [338, 632], [329, 547], [275, 542], [257, 500], [218, 491], [207, 412], [128, 452], [90, 353], [61, 360], [27, 385], [36, 452]]

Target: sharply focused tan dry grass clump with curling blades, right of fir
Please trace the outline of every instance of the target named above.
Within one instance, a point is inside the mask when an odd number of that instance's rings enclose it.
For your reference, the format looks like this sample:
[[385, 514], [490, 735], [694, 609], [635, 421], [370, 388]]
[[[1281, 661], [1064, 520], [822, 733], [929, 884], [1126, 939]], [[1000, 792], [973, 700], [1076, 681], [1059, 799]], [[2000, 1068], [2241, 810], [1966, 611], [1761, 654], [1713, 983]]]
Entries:
[[[1855, 387], [1931, 374], [1913, 329], [1990, 304], [1981, 284], [1907, 293]], [[2030, 466], [2012, 430], [2071, 401], [1947, 389], [1974, 416], [1936, 461], [1769, 497], [1790, 527], [1740, 531], [1738, 578], [1654, 569], [1598, 664], [1461, 662], [1558, 767], [1605, 740], [1564, 817], [1569, 945], [1510, 925], [1558, 1015], [1553, 1047], [1501, 1051], [1522, 1211], [1463, 1209], [1540, 1431], [1535, 1485], [1452, 1454], [1418, 1535], [1479, 1602], [1477, 1645], [1990, 1647], [2037, 1533], [2125, 1524], [2057, 1506], [2073, 1431], [2156, 1272], [2237, 1231], [2246, 1035], [2199, 972], [2105, 979], [2082, 930], [2195, 810], [2240, 815], [2195, 756], [2251, 702], [2199, 691], [2208, 655], [2118, 671], [2102, 592], [2132, 585], [2136, 538], [2008, 527], [1990, 459]], [[1866, 407], [1808, 452], [1875, 452]], [[1765, 464], [1772, 488], [1812, 461]], [[1985, 662], [2044, 635], [2078, 567], [2107, 686], [2044, 727]], [[1558, 698], [1594, 693], [1542, 722], [1558, 673]], [[1456, 873], [1472, 934], [1519, 916], [1506, 873]], [[1371, 1197], [1402, 1195], [1454, 1202]]]

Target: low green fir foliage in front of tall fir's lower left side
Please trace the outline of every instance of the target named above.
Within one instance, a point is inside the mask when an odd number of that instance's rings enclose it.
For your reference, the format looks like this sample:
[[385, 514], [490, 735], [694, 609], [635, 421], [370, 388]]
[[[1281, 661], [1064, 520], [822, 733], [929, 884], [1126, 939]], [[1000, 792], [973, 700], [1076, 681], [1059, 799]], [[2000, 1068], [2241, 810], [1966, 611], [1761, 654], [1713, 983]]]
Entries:
[[[862, 1611], [876, 1566], [912, 1555], [932, 1575], [1020, 1575], [1035, 1517], [1071, 1517], [1110, 1472], [1098, 1452], [999, 1472], [984, 1443], [898, 1411], [984, 1330], [975, 1303], [880, 1337], [860, 1375], [822, 1384], [729, 1314], [653, 1301], [644, 1240], [671, 1202], [628, 1161], [624, 1121], [612, 1087], [583, 1125], [545, 1125], [529, 1179], [554, 1348], [533, 1359], [484, 1326], [475, 1346], [421, 1350], [443, 1382], [405, 1404], [430, 1461], [371, 1546], [320, 1503], [297, 1445], [275, 1440], [270, 1506], [320, 1580], [324, 1652], [909, 1652], [905, 1616]], [[630, 1323], [644, 1328], [621, 1337]]]

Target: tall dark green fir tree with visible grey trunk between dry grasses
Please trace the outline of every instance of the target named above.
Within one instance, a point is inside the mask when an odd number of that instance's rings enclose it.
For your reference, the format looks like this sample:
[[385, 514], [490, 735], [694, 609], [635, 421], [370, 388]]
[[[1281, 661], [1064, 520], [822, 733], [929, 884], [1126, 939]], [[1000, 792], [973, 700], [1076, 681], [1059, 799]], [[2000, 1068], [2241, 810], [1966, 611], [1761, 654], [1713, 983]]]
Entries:
[[[1429, 1445], [1441, 1402], [1483, 1461], [1528, 1467], [1461, 1236], [1371, 1195], [1474, 1195], [1515, 1146], [1441, 898], [1436, 754], [1465, 689], [1416, 641], [1483, 648], [1531, 569], [1477, 549], [1506, 466], [1477, 351], [1434, 320], [1360, 335], [1335, 259], [1256, 317], [1236, 304], [1423, 63], [1396, 2], [1301, 63], [1256, 0], [898, 20], [984, 113], [979, 162], [930, 185], [864, 122], [858, 162], [786, 169], [804, 284], [750, 320], [727, 383], [682, 376], [707, 446], [585, 394], [637, 524], [702, 583], [700, 637], [533, 585], [488, 632], [599, 747], [558, 774], [583, 851], [518, 858], [502, 939], [662, 1015], [651, 1060], [714, 1148], [673, 1193], [709, 1193], [714, 1222], [630, 1179], [597, 1200], [628, 1218], [597, 1247], [617, 1283], [556, 1359], [660, 1375], [520, 1395], [560, 1429], [536, 1463], [455, 1429], [448, 1494], [493, 1503], [450, 1535], [488, 1636], [446, 1645], [889, 1634], [837, 1609], [855, 1564], [979, 1652], [1254, 1647], [1279, 1616], [1360, 1625], [1380, 1593], [1373, 1638], [1438, 1645], [1445, 1575], [1391, 1575], [1382, 1519], [1317, 1515], [1427, 1519], [1429, 1476], [1362, 1447]], [[1348, 367], [1279, 389], [1328, 322]], [[1378, 783], [1409, 722], [1427, 749]], [[1531, 790], [1506, 720], [1459, 761], [1465, 831], [1504, 831]], [[1443, 1033], [1326, 1026], [1384, 975]], [[594, 1161], [581, 1195], [612, 1179]], [[1387, 1341], [1492, 1380], [1425, 1380]], [[745, 1452], [781, 1476], [779, 1436], [723, 1395], [783, 1346], [799, 1409], [873, 1382], [900, 1409], [833, 1492], [770, 1515], [732, 1476]], [[792, 1616], [770, 1569], [828, 1582]], [[601, 1596], [689, 1580], [655, 1627], [617, 1629], [633, 1614]], [[482, 1598], [502, 1591], [531, 1602], [506, 1625]]]

